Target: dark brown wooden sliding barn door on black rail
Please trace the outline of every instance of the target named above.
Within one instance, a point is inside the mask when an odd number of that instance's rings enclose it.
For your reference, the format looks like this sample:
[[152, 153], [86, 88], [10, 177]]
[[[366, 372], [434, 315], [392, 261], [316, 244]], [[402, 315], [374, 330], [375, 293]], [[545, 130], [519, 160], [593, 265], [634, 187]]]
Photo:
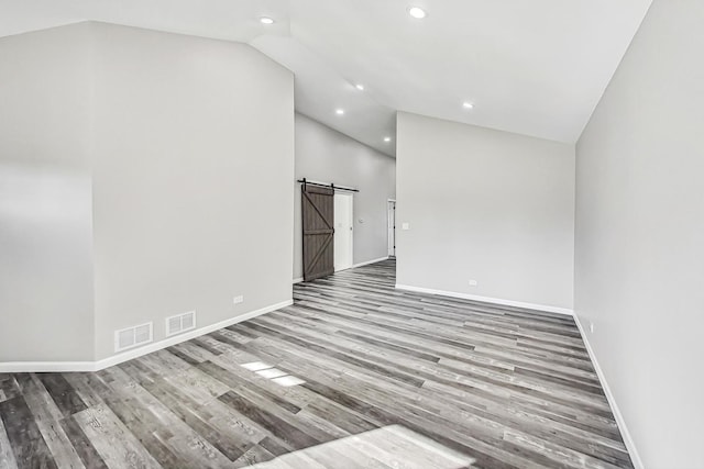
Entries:
[[301, 186], [304, 280], [334, 272], [334, 190]]

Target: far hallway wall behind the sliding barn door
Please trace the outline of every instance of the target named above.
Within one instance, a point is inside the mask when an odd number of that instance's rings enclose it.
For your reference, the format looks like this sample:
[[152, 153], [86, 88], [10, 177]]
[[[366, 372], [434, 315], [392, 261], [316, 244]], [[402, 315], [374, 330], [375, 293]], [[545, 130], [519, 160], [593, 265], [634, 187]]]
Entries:
[[[391, 143], [389, 145], [393, 145]], [[387, 201], [396, 197], [396, 160], [296, 114], [296, 180], [354, 187], [354, 264], [388, 255]], [[295, 183], [294, 279], [302, 277], [300, 185]], [[360, 219], [364, 223], [360, 223]]]

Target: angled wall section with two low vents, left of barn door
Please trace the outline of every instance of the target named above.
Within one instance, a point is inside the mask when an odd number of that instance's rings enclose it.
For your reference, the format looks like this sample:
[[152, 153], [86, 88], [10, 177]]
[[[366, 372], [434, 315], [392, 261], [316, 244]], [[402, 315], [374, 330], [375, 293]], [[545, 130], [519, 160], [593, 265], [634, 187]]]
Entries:
[[243, 44], [95, 27], [98, 358], [120, 327], [160, 339], [169, 315], [290, 300], [290, 71]]

